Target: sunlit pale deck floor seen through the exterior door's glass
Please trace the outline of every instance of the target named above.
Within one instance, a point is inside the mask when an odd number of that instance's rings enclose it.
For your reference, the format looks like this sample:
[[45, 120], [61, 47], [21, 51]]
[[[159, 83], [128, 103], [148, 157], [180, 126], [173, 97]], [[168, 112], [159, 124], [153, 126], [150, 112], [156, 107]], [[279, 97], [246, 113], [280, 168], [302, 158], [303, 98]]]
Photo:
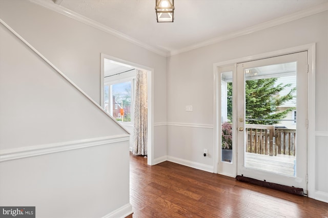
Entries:
[[295, 162], [295, 157], [290, 155], [269, 156], [245, 153], [245, 167], [270, 171], [286, 176], [295, 176]]

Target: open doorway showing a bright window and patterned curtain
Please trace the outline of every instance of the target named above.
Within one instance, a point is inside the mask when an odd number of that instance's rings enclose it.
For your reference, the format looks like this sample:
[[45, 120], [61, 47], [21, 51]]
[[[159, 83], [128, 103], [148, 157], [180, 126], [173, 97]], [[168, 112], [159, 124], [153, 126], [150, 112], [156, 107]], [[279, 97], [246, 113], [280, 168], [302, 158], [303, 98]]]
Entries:
[[[101, 107], [130, 133], [130, 152], [141, 149], [140, 140], [135, 143], [138, 137], [134, 136], [136, 131], [142, 131], [144, 146], [142, 153], [138, 153], [147, 156], [149, 165], [153, 162], [152, 73], [146, 66], [101, 54]], [[140, 75], [144, 78], [144, 94], [140, 94]], [[138, 124], [142, 128], [137, 128]]]

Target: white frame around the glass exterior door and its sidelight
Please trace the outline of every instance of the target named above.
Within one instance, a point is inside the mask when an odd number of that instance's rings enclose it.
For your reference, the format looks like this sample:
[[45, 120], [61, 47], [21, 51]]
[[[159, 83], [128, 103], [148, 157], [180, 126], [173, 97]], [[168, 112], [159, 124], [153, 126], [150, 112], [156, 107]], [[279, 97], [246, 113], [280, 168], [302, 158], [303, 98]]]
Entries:
[[[315, 144], [315, 43], [311, 44], [305, 44], [300, 45], [296, 47], [291, 47], [289, 49], [283, 49], [279, 51], [274, 52], [268, 52], [263, 53], [259, 55], [253, 55], [249, 57], [244, 58], [238, 58], [228, 61], [222, 61], [218, 63], [213, 64], [213, 87], [214, 87], [214, 99], [213, 99], [213, 114], [214, 114], [214, 147], [213, 147], [213, 169], [214, 173], [220, 173], [223, 175], [235, 177], [236, 175], [230, 175], [229, 169], [225, 169], [224, 166], [220, 168], [221, 172], [218, 171], [218, 164], [221, 164], [220, 156], [219, 156], [219, 149], [221, 146], [221, 143], [219, 141], [220, 134], [218, 133], [218, 130], [220, 129], [220, 95], [219, 95], [219, 89], [220, 89], [220, 75], [218, 71], [218, 67], [228, 66], [228, 65], [235, 65], [237, 63], [242, 62], [248, 62], [248, 61], [254, 61], [264, 58], [270, 58], [280, 55], [287, 55], [292, 54], [296, 52], [303, 52], [308, 51], [308, 64], [309, 64], [309, 73], [308, 73], [308, 120], [309, 120], [309, 128], [308, 128], [308, 176], [309, 176], [309, 183], [308, 183], [308, 193], [309, 197], [311, 197], [312, 193], [315, 191], [315, 149], [313, 148], [313, 144]], [[235, 70], [235, 69], [234, 69]], [[236, 153], [236, 149], [234, 149], [234, 152]], [[233, 167], [235, 167], [235, 172], [237, 172], [237, 162], [233, 161]]]

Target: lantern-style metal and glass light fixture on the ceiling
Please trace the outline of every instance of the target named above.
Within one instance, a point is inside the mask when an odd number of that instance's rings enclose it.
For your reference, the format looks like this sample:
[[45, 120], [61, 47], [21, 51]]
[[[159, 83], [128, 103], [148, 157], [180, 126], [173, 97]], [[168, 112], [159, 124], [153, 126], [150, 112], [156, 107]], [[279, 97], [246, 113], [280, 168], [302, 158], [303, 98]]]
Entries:
[[174, 20], [174, 0], [156, 0], [157, 22], [173, 22]]

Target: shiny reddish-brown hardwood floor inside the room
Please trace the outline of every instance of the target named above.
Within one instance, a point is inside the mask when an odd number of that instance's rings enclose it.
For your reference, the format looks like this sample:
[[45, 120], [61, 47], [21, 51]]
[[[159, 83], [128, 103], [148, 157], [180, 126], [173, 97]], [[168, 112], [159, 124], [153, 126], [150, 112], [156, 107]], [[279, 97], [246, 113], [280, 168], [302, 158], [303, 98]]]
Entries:
[[128, 217], [328, 217], [328, 203], [130, 155]]

